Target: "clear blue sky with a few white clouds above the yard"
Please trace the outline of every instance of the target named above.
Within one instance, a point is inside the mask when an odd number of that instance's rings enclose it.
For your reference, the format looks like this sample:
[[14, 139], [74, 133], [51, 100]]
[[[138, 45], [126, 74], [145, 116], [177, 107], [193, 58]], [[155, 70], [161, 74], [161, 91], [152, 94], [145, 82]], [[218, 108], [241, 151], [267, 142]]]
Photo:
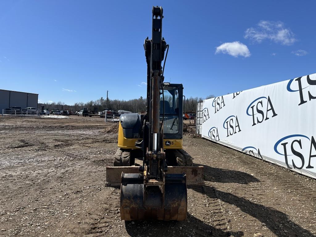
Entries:
[[315, 1], [0, 1], [0, 89], [66, 104], [146, 95], [144, 39], [162, 6], [165, 80], [186, 97], [316, 72]]

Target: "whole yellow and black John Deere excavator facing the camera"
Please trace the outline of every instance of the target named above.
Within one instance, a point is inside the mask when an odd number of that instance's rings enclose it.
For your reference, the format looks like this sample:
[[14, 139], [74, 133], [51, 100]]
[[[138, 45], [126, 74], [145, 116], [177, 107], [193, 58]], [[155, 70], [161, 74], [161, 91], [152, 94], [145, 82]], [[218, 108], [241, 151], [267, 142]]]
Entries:
[[121, 186], [120, 214], [126, 221], [183, 221], [186, 185], [203, 184], [203, 167], [193, 166], [182, 149], [183, 86], [164, 82], [169, 45], [162, 37], [162, 13], [162, 7], [153, 7], [152, 39], [144, 43], [147, 112], [120, 116], [119, 149], [113, 167], [106, 167], [108, 184]]

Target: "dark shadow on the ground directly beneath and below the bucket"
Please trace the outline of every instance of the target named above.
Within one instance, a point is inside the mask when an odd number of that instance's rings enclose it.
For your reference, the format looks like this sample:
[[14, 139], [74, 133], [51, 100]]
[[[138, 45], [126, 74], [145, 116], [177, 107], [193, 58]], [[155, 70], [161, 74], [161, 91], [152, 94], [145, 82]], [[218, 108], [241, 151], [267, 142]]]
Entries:
[[[214, 228], [188, 213], [183, 222], [178, 221], [125, 221], [127, 233], [132, 237], [143, 236], [234, 236], [240, 237], [244, 233], [225, 232], [221, 229]], [[181, 228], [180, 228], [181, 227]], [[150, 234], [150, 235], [149, 235]]]

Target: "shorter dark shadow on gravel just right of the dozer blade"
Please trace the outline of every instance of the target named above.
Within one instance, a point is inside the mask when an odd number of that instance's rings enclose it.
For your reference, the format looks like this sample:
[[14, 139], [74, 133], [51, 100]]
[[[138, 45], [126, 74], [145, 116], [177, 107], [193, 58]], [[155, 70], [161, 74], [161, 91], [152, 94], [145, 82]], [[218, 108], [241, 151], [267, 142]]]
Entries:
[[242, 171], [220, 169], [220, 168], [210, 167], [210, 166], [201, 165], [201, 164], [194, 164], [194, 166], [204, 167], [204, 181], [217, 182], [217, 183], [239, 183], [239, 184], [260, 182], [259, 179]]

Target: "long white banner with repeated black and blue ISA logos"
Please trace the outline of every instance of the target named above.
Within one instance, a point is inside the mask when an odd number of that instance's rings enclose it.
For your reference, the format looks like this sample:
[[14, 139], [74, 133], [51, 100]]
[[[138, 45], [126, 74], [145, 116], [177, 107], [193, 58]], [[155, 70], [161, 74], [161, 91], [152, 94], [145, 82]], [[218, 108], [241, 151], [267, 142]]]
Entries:
[[204, 100], [202, 137], [316, 179], [316, 74]]

